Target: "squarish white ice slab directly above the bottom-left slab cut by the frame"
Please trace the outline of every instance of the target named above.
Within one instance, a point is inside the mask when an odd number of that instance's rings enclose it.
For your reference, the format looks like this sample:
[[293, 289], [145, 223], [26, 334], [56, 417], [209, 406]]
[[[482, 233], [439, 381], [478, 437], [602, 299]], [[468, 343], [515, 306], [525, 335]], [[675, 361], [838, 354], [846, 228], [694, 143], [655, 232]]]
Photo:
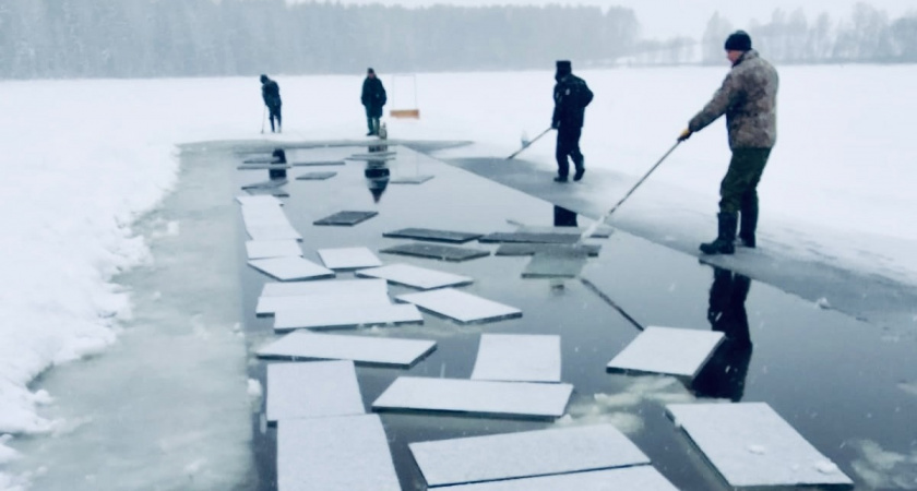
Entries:
[[362, 415], [353, 361], [267, 366], [267, 421]]

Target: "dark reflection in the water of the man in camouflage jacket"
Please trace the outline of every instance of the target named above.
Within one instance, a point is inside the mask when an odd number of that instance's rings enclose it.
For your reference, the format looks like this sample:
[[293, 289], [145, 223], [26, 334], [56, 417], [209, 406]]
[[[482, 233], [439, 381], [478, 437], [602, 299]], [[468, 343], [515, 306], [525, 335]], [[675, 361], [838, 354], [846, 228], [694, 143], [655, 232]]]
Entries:
[[750, 288], [748, 276], [714, 266], [707, 321], [713, 331], [722, 332], [726, 338], [694, 378], [691, 387], [698, 395], [731, 399], [734, 403], [745, 395], [752, 349], [745, 307]]

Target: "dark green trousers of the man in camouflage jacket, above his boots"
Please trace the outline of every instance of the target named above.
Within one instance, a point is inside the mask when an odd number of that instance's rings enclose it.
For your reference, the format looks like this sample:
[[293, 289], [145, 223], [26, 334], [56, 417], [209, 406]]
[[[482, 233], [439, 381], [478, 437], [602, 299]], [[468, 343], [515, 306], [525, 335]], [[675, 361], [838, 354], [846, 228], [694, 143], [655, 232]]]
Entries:
[[758, 182], [771, 148], [736, 148], [719, 184], [720, 213], [758, 213]]

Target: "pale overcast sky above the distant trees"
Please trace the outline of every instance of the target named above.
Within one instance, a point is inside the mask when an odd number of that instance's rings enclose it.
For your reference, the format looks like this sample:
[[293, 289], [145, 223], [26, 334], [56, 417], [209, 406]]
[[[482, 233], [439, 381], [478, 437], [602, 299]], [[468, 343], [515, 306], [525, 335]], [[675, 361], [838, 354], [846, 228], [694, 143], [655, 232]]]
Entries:
[[[295, 1], [295, 0], [294, 0]], [[621, 5], [636, 12], [643, 26], [643, 37], [667, 38], [677, 35], [700, 37], [706, 21], [719, 12], [737, 28], [751, 19], [766, 21], [774, 9], [791, 12], [802, 7], [811, 20], [818, 13], [827, 11], [834, 17], [849, 16], [853, 5], [859, 0], [341, 0], [342, 3], [383, 3], [386, 5], [421, 7], [436, 3], [454, 5], [500, 5], [560, 3], [565, 5]], [[867, 3], [884, 10], [892, 17], [909, 10], [917, 10], [917, 0], [869, 0]]]

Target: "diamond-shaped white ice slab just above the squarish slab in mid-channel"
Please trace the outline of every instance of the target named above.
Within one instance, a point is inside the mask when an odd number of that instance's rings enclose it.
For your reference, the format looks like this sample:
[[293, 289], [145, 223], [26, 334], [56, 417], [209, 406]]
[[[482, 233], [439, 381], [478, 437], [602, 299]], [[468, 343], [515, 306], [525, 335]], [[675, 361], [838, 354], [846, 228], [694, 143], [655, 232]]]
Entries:
[[465, 323], [500, 321], [522, 316], [522, 311], [515, 307], [504, 306], [454, 288], [405, 294], [395, 298]]

